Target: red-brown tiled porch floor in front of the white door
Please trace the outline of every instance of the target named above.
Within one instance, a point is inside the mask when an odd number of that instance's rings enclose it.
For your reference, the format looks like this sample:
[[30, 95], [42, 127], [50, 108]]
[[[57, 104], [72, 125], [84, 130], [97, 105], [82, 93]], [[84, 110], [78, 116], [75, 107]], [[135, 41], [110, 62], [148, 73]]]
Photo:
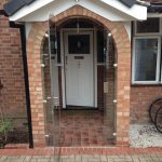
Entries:
[[[60, 121], [58, 112], [55, 116], [55, 125], [49, 123], [51, 136], [49, 144], [56, 146], [107, 146], [112, 144], [111, 122], [104, 122], [104, 112], [99, 110], [62, 110]], [[58, 133], [59, 132], [59, 133]]]

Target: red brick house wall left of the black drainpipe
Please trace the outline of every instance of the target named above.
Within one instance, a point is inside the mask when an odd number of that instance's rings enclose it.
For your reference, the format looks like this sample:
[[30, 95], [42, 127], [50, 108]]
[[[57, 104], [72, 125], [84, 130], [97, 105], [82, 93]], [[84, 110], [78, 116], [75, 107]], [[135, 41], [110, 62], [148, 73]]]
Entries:
[[[5, 0], [1, 0], [0, 10], [4, 3]], [[8, 17], [0, 15], [0, 80], [3, 84], [0, 107], [6, 117], [14, 119], [17, 126], [27, 123], [21, 51], [19, 30], [10, 28]]]

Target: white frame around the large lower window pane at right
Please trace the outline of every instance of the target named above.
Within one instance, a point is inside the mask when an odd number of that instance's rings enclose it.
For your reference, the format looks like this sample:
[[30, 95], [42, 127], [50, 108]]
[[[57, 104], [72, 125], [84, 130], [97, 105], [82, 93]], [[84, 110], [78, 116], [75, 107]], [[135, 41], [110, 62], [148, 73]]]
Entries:
[[[136, 40], [137, 39], [158, 39], [158, 57], [157, 57], [157, 72], [156, 72], [156, 80], [154, 81], [135, 81], [135, 49], [136, 49]], [[158, 36], [144, 36], [144, 37], [134, 37], [133, 39], [133, 59], [132, 59], [132, 83], [133, 84], [159, 84], [160, 81], [160, 69], [161, 69], [161, 37]]]

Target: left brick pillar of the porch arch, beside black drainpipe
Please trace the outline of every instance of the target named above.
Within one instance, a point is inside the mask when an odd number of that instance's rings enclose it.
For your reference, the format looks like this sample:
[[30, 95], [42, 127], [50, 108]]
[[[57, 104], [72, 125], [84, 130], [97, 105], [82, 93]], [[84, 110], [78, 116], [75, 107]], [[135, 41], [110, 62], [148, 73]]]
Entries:
[[43, 105], [43, 77], [41, 68], [41, 42], [45, 29], [35, 24], [27, 42], [31, 120], [35, 147], [45, 147], [45, 112]]

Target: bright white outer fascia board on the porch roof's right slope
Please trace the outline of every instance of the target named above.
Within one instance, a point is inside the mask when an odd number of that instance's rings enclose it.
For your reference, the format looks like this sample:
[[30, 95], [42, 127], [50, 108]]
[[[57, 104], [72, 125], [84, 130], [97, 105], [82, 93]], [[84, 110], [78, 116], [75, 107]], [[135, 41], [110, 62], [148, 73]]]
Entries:
[[135, 19], [147, 19], [147, 6], [135, 4], [132, 8], [127, 8], [119, 0], [100, 0], [104, 3], [134, 17]]

